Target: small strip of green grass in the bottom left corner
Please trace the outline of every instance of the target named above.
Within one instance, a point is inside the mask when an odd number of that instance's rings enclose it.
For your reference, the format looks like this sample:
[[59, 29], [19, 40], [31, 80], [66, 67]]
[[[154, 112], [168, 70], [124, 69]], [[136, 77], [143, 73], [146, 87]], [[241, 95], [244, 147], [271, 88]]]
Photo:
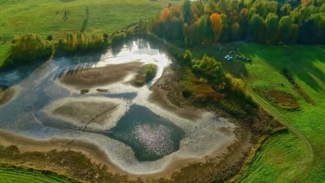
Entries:
[[4, 168], [0, 166], [0, 182], [3, 183], [52, 183], [52, 182], [75, 182], [66, 177], [53, 173], [40, 173], [38, 171], [22, 170], [20, 168]]

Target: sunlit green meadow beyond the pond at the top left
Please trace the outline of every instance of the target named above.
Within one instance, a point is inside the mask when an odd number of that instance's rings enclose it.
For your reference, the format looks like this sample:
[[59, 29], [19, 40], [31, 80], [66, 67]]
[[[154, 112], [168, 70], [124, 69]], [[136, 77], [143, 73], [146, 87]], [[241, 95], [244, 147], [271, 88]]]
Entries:
[[0, 1], [0, 40], [10, 40], [15, 34], [26, 32], [54, 38], [79, 30], [112, 33], [153, 16], [168, 3], [168, 0]]

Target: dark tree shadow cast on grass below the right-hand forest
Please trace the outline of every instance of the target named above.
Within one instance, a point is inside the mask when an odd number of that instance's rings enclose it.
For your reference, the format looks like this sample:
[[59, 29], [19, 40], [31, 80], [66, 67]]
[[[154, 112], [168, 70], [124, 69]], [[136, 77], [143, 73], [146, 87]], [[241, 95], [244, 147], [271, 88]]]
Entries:
[[[325, 73], [315, 65], [315, 62], [325, 62], [323, 46], [294, 45], [266, 45], [244, 43], [242, 46], [250, 57], [257, 56], [265, 60], [270, 66], [283, 75], [283, 69], [288, 69], [292, 76], [299, 78], [316, 92], [324, 89], [315, 80], [325, 81]], [[268, 74], [265, 71], [265, 74]]]

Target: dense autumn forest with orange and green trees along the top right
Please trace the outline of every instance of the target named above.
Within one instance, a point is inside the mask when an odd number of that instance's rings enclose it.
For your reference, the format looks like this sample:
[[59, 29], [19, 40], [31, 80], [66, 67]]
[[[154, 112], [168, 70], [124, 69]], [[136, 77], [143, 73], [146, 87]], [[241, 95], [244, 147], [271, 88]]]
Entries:
[[169, 5], [138, 30], [184, 44], [249, 40], [259, 43], [324, 44], [325, 1], [185, 0]]

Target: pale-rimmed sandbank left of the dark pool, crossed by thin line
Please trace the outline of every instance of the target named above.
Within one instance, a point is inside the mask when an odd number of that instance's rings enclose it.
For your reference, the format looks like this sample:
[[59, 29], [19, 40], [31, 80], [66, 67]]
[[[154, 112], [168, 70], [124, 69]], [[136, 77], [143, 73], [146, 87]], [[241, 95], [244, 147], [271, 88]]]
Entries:
[[125, 101], [104, 97], [62, 98], [44, 108], [49, 116], [67, 121], [81, 131], [109, 130], [126, 110]]

